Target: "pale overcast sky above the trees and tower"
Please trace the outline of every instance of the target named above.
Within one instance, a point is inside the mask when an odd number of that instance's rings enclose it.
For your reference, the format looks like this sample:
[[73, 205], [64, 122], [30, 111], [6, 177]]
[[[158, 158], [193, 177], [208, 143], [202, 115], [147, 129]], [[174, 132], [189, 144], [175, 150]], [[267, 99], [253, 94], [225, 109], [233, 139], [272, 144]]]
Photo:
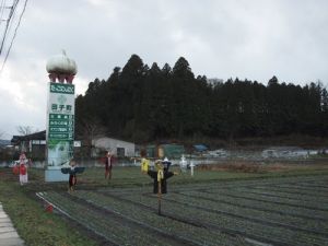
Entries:
[[327, 85], [327, 0], [30, 0], [0, 75], [0, 139], [46, 129], [46, 62], [61, 49], [77, 94], [132, 54], [160, 67], [183, 56], [208, 78]]

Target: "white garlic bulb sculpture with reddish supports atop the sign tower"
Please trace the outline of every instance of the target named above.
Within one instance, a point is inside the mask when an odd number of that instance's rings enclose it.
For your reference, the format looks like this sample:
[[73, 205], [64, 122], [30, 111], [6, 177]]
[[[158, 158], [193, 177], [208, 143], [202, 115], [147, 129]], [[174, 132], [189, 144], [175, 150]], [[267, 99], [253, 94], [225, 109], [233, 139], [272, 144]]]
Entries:
[[66, 51], [62, 50], [62, 54], [50, 57], [47, 61], [46, 67], [50, 82], [65, 83], [69, 84], [73, 82], [74, 75], [78, 72], [77, 63], [73, 59], [67, 57]]

